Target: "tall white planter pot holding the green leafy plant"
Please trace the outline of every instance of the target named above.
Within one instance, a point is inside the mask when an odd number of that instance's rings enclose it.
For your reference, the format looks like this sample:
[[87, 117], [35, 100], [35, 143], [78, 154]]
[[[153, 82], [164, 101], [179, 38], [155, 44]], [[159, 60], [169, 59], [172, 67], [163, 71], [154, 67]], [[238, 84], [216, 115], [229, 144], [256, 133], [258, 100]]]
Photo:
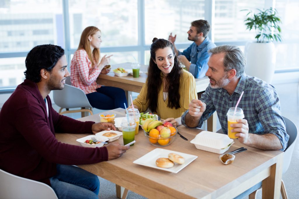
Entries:
[[275, 46], [272, 42], [248, 42], [245, 46], [247, 59], [245, 73], [271, 83], [275, 71]]

